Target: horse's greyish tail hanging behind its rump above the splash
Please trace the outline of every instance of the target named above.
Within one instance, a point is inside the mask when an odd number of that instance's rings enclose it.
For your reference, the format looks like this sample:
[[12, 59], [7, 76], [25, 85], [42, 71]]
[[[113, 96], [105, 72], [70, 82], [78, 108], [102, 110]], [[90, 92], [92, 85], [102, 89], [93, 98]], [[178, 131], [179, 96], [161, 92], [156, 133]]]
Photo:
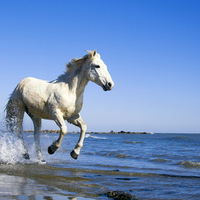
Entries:
[[24, 116], [24, 106], [20, 99], [13, 98], [11, 95], [6, 108], [6, 125], [11, 132], [19, 133], [22, 129], [22, 120]]

